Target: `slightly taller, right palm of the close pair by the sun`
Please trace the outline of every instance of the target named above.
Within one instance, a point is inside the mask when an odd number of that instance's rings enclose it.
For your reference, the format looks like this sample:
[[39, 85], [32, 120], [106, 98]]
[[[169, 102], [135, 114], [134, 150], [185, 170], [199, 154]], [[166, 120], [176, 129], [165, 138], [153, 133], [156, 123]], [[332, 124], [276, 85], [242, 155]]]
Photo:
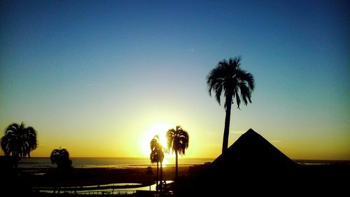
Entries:
[[172, 152], [175, 152], [175, 179], [178, 177], [178, 154], [184, 155], [185, 150], [188, 148], [188, 141], [190, 137], [186, 130], [183, 130], [180, 125], [176, 128], [169, 129], [167, 131], [167, 144]]

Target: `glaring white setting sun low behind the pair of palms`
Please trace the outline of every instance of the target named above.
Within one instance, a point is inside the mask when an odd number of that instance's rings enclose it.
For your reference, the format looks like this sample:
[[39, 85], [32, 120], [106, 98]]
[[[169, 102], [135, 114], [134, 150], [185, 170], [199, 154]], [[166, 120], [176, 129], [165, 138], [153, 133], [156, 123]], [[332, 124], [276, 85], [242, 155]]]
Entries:
[[[162, 147], [167, 149], [167, 130], [171, 129], [173, 126], [169, 123], [154, 123], [145, 129], [144, 135], [141, 137], [140, 149], [144, 156], [149, 156], [151, 154], [150, 142], [158, 135], [160, 138], [160, 144]], [[166, 154], [167, 155], [167, 154]]]

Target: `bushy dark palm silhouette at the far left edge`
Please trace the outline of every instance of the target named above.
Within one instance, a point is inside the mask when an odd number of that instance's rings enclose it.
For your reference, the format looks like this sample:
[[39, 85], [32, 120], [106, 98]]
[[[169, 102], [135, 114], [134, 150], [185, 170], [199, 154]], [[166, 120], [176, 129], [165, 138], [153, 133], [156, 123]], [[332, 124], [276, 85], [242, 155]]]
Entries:
[[18, 167], [18, 161], [21, 157], [28, 156], [30, 152], [38, 147], [36, 141], [36, 130], [31, 126], [25, 127], [22, 122], [20, 125], [12, 123], [5, 130], [5, 135], [1, 137], [1, 149], [6, 156], [15, 156], [17, 162], [15, 168]]

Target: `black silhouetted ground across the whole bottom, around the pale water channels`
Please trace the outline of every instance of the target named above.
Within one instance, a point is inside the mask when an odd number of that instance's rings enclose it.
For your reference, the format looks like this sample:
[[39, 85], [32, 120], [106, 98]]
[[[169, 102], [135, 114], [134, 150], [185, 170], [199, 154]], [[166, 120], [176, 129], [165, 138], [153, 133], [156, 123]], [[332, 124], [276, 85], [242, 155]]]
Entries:
[[[180, 177], [172, 186], [174, 196], [344, 196], [349, 194], [350, 186], [349, 163], [297, 165], [289, 169], [236, 166], [231, 170], [213, 170], [210, 165], [194, 165], [181, 167], [179, 172]], [[163, 174], [164, 179], [173, 179], [174, 168], [164, 168]], [[156, 170], [153, 169], [151, 182], [155, 180], [155, 176]], [[117, 182], [148, 185], [146, 168], [76, 168], [67, 172], [56, 169], [27, 169], [20, 171], [20, 175], [2, 172], [0, 196], [64, 196], [34, 193], [32, 187], [85, 186]], [[154, 196], [154, 193], [139, 191], [119, 196]]]

